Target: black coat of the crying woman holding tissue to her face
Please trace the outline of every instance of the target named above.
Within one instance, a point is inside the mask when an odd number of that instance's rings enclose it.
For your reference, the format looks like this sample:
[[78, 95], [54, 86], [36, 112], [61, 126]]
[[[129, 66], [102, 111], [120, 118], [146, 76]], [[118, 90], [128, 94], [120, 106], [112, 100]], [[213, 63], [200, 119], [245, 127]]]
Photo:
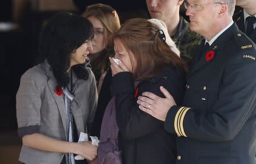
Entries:
[[162, 96], [159, 87], [164, 86], [178, 104], [184, 94], [185, 75], [167, 66], [154, 77], [138, 84], [135, 97], [133, 76], [129, 72], [114, 75], [112, 94], [116, 97], [116, 119], [119, 127], [119, 148], [124, 164], [175, 163], [176, 144], [174, 134], [164, 131], [163, 121], [139, 110], [137, 98], [144, 91]]

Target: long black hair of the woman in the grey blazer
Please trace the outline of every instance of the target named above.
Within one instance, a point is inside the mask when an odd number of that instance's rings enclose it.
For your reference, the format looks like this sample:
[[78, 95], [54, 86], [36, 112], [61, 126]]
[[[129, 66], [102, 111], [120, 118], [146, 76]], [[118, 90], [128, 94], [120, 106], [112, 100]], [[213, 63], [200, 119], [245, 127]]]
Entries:
[[[70, 67], [71, 54], [86, 40], [93, 39], [92, 23], [82, 16], [68, 12], [54, 15], [42, 28], [39, 36], [39, 54], [46, 56], [58, 88], [67, 86], [69, 82], [67, 70]], [[88, 79], [85, 64], [72, 66], [80, 79]]]

